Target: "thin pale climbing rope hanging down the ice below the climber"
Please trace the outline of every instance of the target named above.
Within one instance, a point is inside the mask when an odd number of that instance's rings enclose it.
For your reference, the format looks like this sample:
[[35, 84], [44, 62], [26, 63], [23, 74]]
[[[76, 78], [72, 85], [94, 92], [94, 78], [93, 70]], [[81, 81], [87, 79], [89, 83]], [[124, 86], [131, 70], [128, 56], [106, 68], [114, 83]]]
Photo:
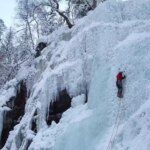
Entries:
[[109, 143], [108, 143], [108, 146], [107, 146], [106, 150], [112, 150], [113, 145], [115, 143], [115, 138], [116, 138], [116, 135], [118, 133], [118, 127], [119, 127], [120, 122], [121, 122], [121, 115], [122, 115], [122, 106], [121, 106], [121, 104], [122, 104], [122, 102], [120, 101], [119, 102], [119, 109], [118, 109], [117, 116], [116, 116], [116, 119], [115, 119], [114, 128], [113, 128], [113, 131], [112, 131], [112, 134], [111, 134], [111, 137], [110, 137], [110, 140], [109, 140]]

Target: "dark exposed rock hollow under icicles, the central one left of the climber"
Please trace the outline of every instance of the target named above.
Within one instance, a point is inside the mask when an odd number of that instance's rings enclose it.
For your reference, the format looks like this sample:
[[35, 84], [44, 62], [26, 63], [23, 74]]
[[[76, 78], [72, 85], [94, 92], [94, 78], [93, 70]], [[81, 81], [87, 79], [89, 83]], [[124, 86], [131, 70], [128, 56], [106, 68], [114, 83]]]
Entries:
[[59, 122], [62, 113], [71, 107], [71, 99], [66, 89], [59, 93], [58, 98], [50, 104], [49, 113], [47, 114], [48, 125], [52, 121]]

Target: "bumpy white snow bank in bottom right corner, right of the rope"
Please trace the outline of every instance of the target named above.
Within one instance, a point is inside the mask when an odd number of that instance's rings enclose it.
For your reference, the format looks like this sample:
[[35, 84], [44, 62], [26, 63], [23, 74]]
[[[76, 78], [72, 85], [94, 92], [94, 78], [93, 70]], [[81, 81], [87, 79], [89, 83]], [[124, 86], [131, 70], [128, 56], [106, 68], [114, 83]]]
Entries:
[[148, 100], [142, 107], [131, 116], [128, 122], [120, 128], [115, 148], [124, 149], [149, 149], [149, 127], [150, 127], [150, 101]]

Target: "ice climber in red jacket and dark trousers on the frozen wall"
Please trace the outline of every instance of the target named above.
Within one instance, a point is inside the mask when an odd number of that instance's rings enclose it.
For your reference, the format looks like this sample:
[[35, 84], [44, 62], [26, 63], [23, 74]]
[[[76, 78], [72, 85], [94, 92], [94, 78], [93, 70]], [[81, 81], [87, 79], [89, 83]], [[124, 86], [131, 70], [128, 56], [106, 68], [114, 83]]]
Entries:
[[123, 75], [123, 72], [122, 72], [122, 71], [120, 71], [120, 72], [117, 74], [116, 78], [117, 78], [116, 86], [117, 86], [117, 88], [118, 88], [117, 96], [118, 96], [119, 98], [122, 98], [122, 97], [123, 97], [123, 94], [122, 94], [122, 92], [123, 92], [122, 80], [125, 79], [126, 76]]

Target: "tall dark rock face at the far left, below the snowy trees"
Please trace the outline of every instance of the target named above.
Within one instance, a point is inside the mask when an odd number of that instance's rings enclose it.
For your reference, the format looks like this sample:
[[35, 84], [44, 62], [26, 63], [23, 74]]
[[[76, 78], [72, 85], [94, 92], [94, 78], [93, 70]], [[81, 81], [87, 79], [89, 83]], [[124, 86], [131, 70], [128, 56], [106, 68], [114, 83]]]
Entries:
[[4, 112], [4, 122], [0, 141], [0, 148], [5, 145], [9, 132], [14, 128], [16, 124], [20, 122], [22, 116], [24, 115], [26, 99], [26, 83], [24, 81], [21, 81], [18, 85], [16, 97], [12, 97], [7, 102], [7, 107], [9, 107], [10, 110]]

